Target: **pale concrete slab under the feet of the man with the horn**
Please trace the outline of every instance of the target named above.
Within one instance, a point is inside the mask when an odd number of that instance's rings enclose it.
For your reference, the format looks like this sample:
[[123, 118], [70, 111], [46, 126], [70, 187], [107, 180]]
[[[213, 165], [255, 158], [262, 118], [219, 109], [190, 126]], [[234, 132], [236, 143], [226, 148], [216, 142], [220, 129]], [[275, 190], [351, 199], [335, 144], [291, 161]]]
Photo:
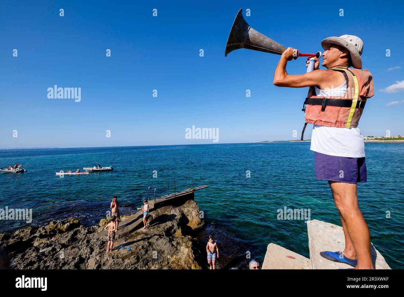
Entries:
[[[344, 232], [341, 226], [319, 220], [307, 221], [307, 235], [309, 236], [309, 251], [312, 269], [352, 268], [343, 263], [324, 259], [322, 251], [343, 251], [345, 246]], [[372, 244], [372, 259], [376, 269], [391, 269], [384, 257]]]

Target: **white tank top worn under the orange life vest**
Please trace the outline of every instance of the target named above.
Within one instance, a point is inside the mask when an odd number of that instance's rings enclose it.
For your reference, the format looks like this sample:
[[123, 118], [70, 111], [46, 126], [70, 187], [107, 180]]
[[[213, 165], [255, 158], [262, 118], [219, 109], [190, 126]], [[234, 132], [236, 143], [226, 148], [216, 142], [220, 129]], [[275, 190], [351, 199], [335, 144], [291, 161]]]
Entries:
[[[320, 90], [314, 87], [316, 96], [344, 96], [347, 82], [338, 88]], [[362, 158], [365, 156], [365, 143], [358, 128], [337, 128], [313, 125], [310, 150], [330, 156]]]

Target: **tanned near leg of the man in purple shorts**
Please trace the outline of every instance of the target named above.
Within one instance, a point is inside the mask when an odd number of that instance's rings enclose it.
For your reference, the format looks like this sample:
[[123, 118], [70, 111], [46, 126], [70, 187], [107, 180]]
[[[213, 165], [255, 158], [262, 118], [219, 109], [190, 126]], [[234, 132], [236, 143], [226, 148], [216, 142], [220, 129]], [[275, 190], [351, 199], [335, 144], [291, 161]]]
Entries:
[[[345, 242], [349, 238], [356, 251], [358, 264], [355, 269], [374, 269], [372, 257], [370, 255], [370, 234], [368, 225], [359, 210], [358, 196], [356, 194], [357, 186], [355, 183], [339, 183], [336, 181], [329, 181], [334, 197], [335, 206], [344, 222]], [[345, 246], [347, 250], [351, 249]], [[346, 255], [349, 257], [348, 255]]]

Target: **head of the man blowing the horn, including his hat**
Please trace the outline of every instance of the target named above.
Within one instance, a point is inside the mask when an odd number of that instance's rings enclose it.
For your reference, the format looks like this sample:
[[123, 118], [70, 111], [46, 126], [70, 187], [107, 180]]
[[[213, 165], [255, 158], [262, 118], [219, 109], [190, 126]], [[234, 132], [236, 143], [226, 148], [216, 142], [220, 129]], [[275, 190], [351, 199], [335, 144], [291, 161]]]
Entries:
[[363, 42], [358, 36], [328, 37], [321, 42], [321, 45], [325, 50], [322, 54], [322, 66], [330, 68], [335, 65], [348, 65], [357, 69], [362, 68], [360, 55], [363, 52]]

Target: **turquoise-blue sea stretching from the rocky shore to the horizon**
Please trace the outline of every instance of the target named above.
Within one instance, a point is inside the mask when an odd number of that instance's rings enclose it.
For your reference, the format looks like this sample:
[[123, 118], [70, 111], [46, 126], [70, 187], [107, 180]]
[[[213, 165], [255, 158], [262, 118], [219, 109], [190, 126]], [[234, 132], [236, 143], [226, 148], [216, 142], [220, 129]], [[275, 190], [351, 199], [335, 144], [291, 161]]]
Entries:
[[[315, 179], [309, 147], [297, 142], [0, 150], [2, 167], [28, 163], [26, 173], [0, 173], [0, 209], [32, 209], [34, 225], [68, 217], [94, 225], [105, 217], [114, 195], [121, 214], [129, 214], [147, 197], [149, 186], [165, 194], [167, 179], [177, 179], [177, 189], [183, 190], [183, 177], [194, 177], [195, 186], [209, 186], [195, 192], [206, 228], [227, 250], [237, 250], [240, 257], [248, 250], [262, 261], [267, 244], [274, 242], [309, 257], [304, 220], [277, 219], [277, 210], [286, 206], [310, 209], [310, 219], [341, 225], [328, 183]], [[365, 151], [368, 182], [358, 184], [360, 209], [373, 244], [391, 268], [403, 269], [404, 143], [366, 143]], [[115, 170], [55, 174], [97, 163]], [[27, 226], [2, 220], [0, 233]]]

